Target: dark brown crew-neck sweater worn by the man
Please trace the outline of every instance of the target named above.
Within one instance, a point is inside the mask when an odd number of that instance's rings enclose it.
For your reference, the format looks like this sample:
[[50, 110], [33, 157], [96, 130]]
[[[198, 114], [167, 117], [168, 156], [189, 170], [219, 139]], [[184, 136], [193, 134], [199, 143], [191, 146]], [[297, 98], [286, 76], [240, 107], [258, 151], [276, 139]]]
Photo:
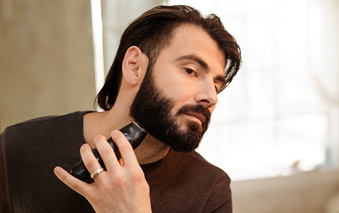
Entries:
[[[36, 118], [0, 135], [0, 212], [94, 212], [53, 173], [80, 159], [85, 113]], [[141, 167], [153, 212], [232, 212], [229, 177], [196, 152], [171, 150]]]

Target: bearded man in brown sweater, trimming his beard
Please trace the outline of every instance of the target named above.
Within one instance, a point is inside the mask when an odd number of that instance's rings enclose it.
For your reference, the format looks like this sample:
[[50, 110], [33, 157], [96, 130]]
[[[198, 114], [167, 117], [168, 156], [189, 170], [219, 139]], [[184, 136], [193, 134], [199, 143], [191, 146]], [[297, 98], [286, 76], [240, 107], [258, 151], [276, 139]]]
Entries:
[[[240, 63], [239, 47], [217, 16], [203, 18], [187, 6], [159, 6], [144, 13], [121, 37], [97, 97], [104, 112], [37, 118], [2, 134], [3, 209], [231, 212], [229, 177], [194, 149], [217, 94]], [[148, 132], [135, 150], [117, 131], [134, 120]], [[79, 149], [93, 183], [69, 174], [80, 159]]]

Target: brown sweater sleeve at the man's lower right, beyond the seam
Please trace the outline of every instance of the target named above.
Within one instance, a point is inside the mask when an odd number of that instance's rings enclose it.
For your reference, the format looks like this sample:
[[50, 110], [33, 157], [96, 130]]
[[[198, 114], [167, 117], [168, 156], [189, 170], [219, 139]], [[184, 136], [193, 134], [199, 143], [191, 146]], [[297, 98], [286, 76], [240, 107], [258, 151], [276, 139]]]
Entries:
[[232, 213], [230, 182], [229, 177], [226, 175], [215, 184], [203, 212]]

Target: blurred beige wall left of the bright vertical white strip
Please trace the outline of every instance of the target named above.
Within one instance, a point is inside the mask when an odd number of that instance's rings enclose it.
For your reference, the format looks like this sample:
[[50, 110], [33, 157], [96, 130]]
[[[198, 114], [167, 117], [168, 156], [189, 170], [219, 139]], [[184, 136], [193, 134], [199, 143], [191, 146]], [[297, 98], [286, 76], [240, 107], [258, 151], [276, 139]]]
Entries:
[[0, 0], [0, 131], [30, 119], [93, 110], [91, 5]]

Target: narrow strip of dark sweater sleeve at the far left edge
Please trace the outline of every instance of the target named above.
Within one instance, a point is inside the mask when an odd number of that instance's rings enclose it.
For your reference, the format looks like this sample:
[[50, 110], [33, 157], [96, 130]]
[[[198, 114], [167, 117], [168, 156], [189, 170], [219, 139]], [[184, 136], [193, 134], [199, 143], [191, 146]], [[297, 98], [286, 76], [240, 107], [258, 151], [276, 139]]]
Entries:
[[0, 135], [0, 212], [10, 212], [6, 196], [5, 142], [3, 137], [4, 133]]

